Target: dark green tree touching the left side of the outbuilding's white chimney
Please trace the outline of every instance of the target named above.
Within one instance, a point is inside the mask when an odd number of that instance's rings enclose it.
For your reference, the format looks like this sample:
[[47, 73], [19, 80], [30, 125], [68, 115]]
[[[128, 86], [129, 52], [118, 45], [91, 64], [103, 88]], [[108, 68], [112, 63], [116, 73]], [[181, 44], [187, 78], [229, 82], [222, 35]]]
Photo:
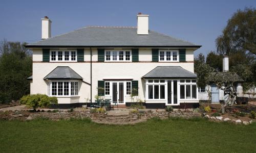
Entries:
[[206, 57], [206, 64], [210, 67], [217, 69], [218, 71], [222, 71], [222, 59], [223, 56], [216, 54], [215, 52], [210, 52]]

